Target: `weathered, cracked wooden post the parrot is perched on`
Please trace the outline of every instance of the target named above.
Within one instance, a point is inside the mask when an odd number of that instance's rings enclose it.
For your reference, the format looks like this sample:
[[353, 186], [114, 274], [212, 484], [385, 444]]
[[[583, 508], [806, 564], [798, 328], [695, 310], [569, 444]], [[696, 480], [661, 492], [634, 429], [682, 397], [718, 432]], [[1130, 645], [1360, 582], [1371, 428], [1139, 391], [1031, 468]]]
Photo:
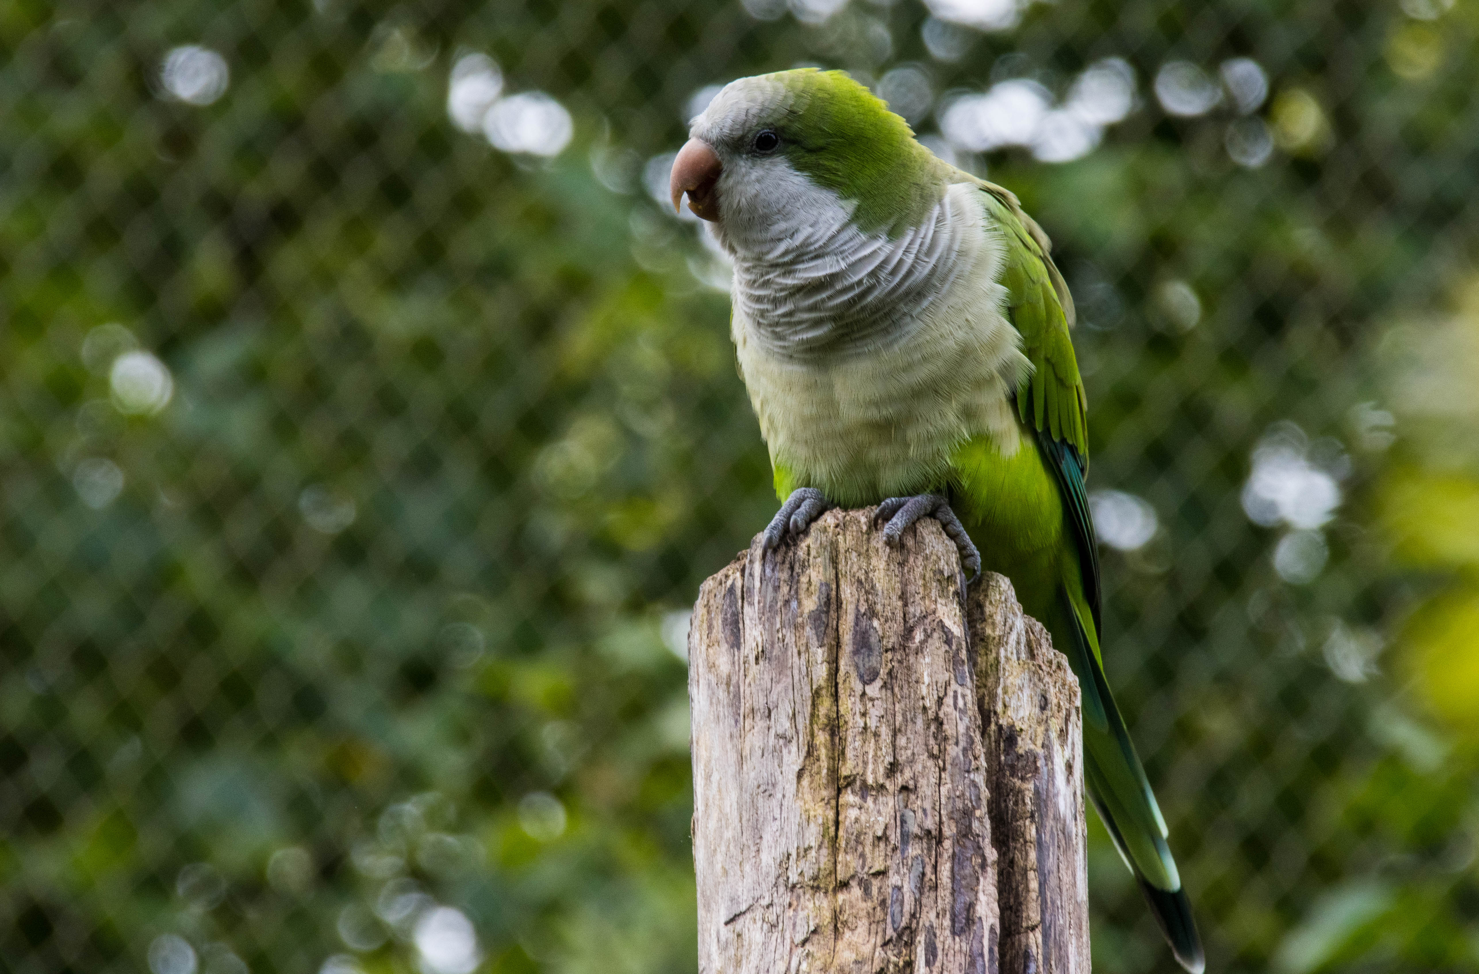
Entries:
[[1078, 684], [935, 522], [870, 517], [700, 593], [700, 971], [1089, 974]]

